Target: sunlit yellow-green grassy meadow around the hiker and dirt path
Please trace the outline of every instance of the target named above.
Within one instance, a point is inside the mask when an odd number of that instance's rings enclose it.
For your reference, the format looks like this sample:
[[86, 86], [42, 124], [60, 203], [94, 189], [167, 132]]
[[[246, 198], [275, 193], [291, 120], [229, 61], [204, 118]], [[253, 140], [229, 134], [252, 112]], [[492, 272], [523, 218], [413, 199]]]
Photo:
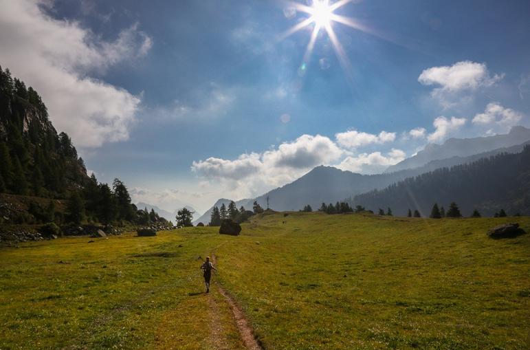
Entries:
[[[283, 223], [285, 221], [285, 223]], [[529, 349], [529, 217], [258, 215], [238, 237], [65, 237], [0, 248], [0, 349]], [[219, 269], [210, 294], [199, 256]]]

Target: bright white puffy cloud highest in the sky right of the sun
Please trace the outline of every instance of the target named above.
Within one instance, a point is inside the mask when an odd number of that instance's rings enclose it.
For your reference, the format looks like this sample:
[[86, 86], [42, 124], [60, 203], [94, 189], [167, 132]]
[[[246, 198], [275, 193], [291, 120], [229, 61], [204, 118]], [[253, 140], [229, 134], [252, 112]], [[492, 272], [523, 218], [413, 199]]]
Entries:
[[424, 70], [418, 78], [423, 85], [441, 85], [441, 89], [461, 91], [488, 87], [502, 76], [489, 76], [485, 63], [462, 61], [452, 66], [432, 67]]

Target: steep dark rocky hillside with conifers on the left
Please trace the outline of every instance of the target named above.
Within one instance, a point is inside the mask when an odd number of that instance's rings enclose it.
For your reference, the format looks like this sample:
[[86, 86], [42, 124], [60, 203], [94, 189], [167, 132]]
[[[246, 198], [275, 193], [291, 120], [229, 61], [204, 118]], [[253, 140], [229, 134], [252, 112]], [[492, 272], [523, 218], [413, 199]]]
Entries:
[[89, 177], [69, 136], [54, 129], [37, 91], [1, 67], [0, 164], [0, 225], [167, 223], [137, 210], [120, 179], [109, 186]]

